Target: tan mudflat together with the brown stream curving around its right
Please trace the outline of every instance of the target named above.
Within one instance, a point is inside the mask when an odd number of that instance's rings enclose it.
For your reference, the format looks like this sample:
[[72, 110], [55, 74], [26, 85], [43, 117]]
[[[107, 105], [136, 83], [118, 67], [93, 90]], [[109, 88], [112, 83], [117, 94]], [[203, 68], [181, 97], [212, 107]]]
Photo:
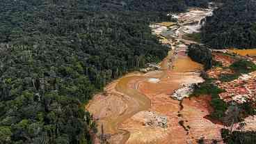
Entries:
[[138, 111], [150, 107], [150, 100], [136, 90], [135, 84], [141, 79], [146, 79], [141, 77], [141, 73], [127, 74], [106, 86], [106, 93], [96, 95], [86, 106], [97, 120], [97, 138], [102, 136], [103, 127], [104, 137], [109, 143], [127, 141], [129, 132], [120, 129], [119, 125]]

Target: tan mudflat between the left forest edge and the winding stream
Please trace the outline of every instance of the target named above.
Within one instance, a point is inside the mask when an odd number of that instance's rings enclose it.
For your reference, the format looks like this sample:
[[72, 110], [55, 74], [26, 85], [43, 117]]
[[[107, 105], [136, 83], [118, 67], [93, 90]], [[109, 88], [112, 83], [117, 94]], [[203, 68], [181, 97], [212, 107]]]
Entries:
[[99, 135], [102, 130], [104, 134], [108, 135], [110, 143], [119, 143], [125, 138], [123, 133], [116, 133], [114, 120], [122, 113], [125, 113], [127, 109], [131, 109], [131, 98], [115, 90], [117, 83], [118, 81], [110, 83], [104, 89], [104, 93], [95, 95], [86, 106], [86, 110], [93, 115], [94, 120], [97, 122], [98, 133], [95, 137], [95, 144], [100, 143]]

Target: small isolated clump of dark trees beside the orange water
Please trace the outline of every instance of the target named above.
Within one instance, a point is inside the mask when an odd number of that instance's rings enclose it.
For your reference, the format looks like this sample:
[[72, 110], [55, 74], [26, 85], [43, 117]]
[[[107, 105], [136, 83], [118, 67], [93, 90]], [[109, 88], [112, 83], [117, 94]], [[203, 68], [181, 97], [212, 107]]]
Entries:
[[192, 58], [193, 61], [204, 64], [206, 70], [211, 68], [211, 51], [207, 47], [191, 44], [189, 45], [188, 55]]

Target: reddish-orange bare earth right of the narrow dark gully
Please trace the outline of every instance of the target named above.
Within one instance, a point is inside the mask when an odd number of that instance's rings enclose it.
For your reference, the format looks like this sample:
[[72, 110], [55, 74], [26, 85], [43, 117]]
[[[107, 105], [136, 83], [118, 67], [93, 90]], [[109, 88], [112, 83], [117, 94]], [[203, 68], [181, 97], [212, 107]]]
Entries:
[[206, 117], [213, 109], [209, 105], [210, 97], [193, 97], [184, 99], [182, 105], [184, 108], [181, 111], [186, 127], [189, 126], [189, 138], [193, 141], [200, 138], [221, 141], [221, 129], [223, 125], [215, 124]]

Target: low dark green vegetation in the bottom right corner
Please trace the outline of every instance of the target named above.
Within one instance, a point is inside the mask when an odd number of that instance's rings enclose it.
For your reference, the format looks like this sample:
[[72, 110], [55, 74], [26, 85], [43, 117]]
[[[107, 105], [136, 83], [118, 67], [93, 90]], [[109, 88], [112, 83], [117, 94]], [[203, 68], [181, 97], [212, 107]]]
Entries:
[[227, 144], [254, 144], [256, 143], [256, 131], [230, 131], [221, 129], [221, 136]]

